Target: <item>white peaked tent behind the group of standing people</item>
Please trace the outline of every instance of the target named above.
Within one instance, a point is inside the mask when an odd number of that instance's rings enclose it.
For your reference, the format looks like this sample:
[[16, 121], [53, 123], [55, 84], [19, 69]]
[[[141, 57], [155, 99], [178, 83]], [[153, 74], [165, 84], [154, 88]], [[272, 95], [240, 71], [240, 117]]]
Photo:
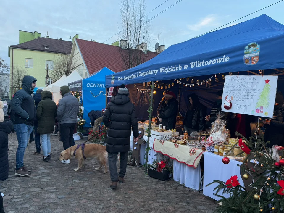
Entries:
[[82, 79], [81, 75], [79, 75], [79, 73], [74, 70], [70, 75], [68, 75], [67, 77], [65, 75], [63, 75], [59, 80], [57, 80], [56, 82], [54, 82], [53, 84], [49, 85], [46, 88], [43, 88], [43, 90], [48, 90], [52, 92], [52, 96], [53, 96], [53, 101], [58, 104], [59, 99], [61, 99], [61, 95], [60, 95], [60, 87], [61, 86], [68, 86], [68, 83], [74, 82], [76, 80], [80, 80]]

